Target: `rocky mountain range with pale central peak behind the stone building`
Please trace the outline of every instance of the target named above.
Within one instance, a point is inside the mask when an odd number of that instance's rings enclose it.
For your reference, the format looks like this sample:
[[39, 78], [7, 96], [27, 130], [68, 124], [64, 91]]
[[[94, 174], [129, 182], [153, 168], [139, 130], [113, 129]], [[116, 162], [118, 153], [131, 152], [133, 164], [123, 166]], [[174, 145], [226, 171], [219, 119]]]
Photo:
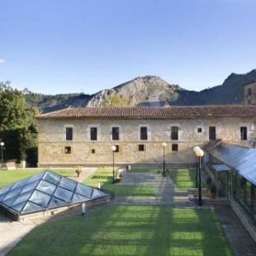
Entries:
[[254, 79], [256, 69], [244, 74], [231, 73], [221, 85], [196, 92], [168, 83], [157, 76], [148, 75], [92, 95], [72, 93], [53, 96], [28, 90], [24, 93], [28, 104], [36, 105], [44, 112], [69, 106], [102, 106], [104, 99], [111, 94], [129, 96], [137, 106], [243, 104], [244, 84]]

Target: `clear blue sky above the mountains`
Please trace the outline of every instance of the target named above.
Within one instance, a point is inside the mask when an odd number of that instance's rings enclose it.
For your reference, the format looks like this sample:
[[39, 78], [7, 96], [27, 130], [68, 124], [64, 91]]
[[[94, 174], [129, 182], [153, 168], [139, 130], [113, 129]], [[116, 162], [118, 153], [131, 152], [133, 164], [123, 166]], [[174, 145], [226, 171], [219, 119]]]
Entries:
[[201, 90], [256, 69], [254, 0], [0, 0], [0, 81], [93, 93], [146, 74]]

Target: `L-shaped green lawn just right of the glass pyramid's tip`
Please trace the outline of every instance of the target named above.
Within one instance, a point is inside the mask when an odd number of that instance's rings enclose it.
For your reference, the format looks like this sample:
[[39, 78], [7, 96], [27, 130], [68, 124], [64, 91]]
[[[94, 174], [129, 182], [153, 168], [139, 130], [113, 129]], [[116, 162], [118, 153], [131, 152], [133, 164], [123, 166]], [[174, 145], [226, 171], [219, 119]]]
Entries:
[[151, 185], [114, 185], [112, 184], [111, 168], [98, 168], [83, 183], [97, 187], [101, 183], [102, 188], [115, 192], [116, 197], [154, 197], [154, 188]]

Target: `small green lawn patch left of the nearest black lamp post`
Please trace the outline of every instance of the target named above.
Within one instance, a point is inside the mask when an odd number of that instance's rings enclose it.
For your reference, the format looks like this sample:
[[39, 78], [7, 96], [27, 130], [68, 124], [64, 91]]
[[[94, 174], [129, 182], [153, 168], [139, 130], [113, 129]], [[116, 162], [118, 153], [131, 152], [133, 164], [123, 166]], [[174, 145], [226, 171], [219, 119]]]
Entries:
[[173, 180], [178, 190], [196, 187], [196, 169], [195, 168], [172, 168], [169, 176]]

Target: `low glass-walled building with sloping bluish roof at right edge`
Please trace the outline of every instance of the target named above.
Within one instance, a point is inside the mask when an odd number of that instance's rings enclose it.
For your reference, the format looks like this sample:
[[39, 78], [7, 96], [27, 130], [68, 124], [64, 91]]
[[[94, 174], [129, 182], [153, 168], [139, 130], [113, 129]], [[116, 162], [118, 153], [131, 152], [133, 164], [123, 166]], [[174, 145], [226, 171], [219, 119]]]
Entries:
[[204, 149], [205, 170], [216, 181], [218, 197], [230, 202], [256, 240], [256, 149], [221, 141]]

